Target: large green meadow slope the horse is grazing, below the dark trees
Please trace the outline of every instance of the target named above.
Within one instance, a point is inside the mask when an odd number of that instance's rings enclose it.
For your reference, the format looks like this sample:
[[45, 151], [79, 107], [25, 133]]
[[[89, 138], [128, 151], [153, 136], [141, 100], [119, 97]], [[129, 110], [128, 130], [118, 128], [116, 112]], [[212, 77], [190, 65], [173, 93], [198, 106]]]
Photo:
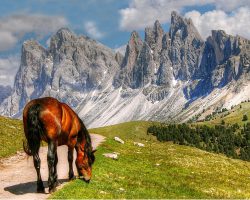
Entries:
[[[90, 184], [72, 181], [51, 198], [250, 198], [250, 163], [147, 136], [151, 123], [93, 129], [107, 137]], [[122, 145], [113, 140], [119, 136]], [[134, 141], [145, 147], [137, 147]], [[117, 161], [103, 153], [118, 152]]]

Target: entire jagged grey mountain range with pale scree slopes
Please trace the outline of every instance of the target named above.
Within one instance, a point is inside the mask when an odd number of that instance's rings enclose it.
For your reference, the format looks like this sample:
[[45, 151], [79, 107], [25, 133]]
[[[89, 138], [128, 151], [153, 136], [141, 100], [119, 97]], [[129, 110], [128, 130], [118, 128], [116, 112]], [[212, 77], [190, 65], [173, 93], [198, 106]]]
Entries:
[[125, 55], [63, 28], [48, 49], [24, 42], [0, 114], [20, 117], [30, 99], [42, 96], [68, 103], [88, 127], [186, 121], [250, 98], [250, 41], [223, 30], [204, 41], [192, 20], [176, 12], [169, 32], [159, 21], [145, 29], [144, 40], [132, 32]]

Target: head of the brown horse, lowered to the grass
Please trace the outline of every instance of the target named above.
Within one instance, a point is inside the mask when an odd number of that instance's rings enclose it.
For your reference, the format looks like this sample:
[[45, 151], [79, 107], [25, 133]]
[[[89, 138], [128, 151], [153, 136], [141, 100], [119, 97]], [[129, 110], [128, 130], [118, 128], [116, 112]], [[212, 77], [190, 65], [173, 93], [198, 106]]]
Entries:
[[79, 174], [79, 177], [85, 182], [89, 183], [92, 176], [92, 165], [95, 161], [94, 151], [81, 151], [78, 152], [76, 159], [76, 168]]

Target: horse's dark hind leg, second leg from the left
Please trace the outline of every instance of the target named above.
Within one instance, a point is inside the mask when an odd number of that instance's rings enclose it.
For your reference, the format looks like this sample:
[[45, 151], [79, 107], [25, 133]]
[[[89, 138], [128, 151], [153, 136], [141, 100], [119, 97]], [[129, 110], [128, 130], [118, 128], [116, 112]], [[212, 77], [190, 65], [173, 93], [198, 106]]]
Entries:
[[48, 161], [48, 167], [49, 167], [49, 179], [48, 179], [48, 185], [49, 185], [49, 193], [54, 192], [56, 189], [57, 184], [57, 177], [56, 171], [55, 171], [55, 163], [56, 162], [56, 149], [57, 145], [54, 141], [49, 141], [48, 143], [48, 155], [47, 155], [47, 161]]

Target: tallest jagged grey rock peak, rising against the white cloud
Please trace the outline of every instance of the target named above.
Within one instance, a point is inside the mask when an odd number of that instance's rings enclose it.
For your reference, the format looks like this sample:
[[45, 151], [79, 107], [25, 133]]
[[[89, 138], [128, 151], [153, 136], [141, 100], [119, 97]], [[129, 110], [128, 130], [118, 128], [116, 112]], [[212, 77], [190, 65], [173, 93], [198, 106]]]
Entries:
[[176, 79], [187, 81], [199, 71], [199, 59], [203, 52], [202, 40], [191, 19], [185, 19], [176, 12], [171, 14], [169, 30], [171, 40], [170, 60]]

